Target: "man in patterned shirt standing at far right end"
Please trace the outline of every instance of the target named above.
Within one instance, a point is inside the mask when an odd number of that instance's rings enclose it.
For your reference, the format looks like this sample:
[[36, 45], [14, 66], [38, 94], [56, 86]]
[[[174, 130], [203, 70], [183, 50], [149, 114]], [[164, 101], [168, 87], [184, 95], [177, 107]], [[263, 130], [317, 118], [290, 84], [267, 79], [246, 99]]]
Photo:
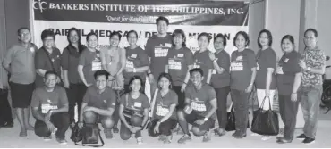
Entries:
[[307, 29], [304, 32], [306, 49], [303, 53], [303, 59], [299, 62], [302, 69], [301, 105], [305, 124], [303, 134], [297, 138], [304, 139], [302, 143], [308, 145], [315, 142], [318, 129], [319, 104], [323, 92], [322, 75], [326, 70], [326, 55], [317, 46], [317, 43], [318, 31]]

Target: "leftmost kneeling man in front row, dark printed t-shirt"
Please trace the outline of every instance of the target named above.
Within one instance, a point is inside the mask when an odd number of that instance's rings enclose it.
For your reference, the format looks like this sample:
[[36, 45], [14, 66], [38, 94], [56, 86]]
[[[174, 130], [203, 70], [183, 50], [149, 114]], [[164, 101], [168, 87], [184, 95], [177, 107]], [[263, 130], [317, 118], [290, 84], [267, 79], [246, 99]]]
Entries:
[[58, 76], [55, 71], [47, 71], [44, 87], [38, 87], [32, 95], [31, 107], [33, 117], [37, 119], [35, 133], [44, 139], [56, 140], [65, 145], [65, 131], [69, 128], [68, 98], [64, 87], [56, 86]]

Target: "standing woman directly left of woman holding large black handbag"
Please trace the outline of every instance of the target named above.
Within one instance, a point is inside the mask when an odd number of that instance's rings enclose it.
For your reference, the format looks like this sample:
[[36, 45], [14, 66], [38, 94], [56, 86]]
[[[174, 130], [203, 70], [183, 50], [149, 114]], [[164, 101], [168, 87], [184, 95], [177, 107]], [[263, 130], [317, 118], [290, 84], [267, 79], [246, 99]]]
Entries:
[[250, 92], [256, 76], [256, 59], [253, 50], [247, 48], [250, 37], [244, 31], [239, 31], [233, 45], [238, 50], [231, 54], [231, 98], [233, 100], [235, 114], [235, 132], [233, 137], [246, 137], [248, 123], [248, 102]]

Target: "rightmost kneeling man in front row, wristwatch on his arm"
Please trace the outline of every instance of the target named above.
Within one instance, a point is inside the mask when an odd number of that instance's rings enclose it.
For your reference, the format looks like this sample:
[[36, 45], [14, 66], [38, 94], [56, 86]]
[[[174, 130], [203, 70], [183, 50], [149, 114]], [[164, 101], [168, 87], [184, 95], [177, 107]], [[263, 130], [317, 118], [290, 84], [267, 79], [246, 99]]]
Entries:
[[210, 128], [214, 128], [216, 120], [216, 93], [213, 87], [202, 83], [203, 71], [200, 68], [190, 70], [193, 87], [185, 90], [185, 108], [177, 111], [179, 125], [184, 136], [178, 143], [184, 144], [191, 140], [188, 123], [192, 124], [195, 136], [203, 136], [203, 142], [210, 141]]

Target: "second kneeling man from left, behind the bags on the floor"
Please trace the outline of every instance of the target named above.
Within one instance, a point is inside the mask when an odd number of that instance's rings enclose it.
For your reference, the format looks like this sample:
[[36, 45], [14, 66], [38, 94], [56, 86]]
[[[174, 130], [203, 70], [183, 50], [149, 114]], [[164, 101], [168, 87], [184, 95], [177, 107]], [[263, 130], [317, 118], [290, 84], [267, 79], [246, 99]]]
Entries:
[[106, 70], [97, 70], [94, 73], [96, 84], [89, 87], [81, 103], [79, 127], [84, 124], [101, 122], [106, 138], [113, 138], [113, 113], [115, 110], [116, 94], [107, 87], [109, 73]]

